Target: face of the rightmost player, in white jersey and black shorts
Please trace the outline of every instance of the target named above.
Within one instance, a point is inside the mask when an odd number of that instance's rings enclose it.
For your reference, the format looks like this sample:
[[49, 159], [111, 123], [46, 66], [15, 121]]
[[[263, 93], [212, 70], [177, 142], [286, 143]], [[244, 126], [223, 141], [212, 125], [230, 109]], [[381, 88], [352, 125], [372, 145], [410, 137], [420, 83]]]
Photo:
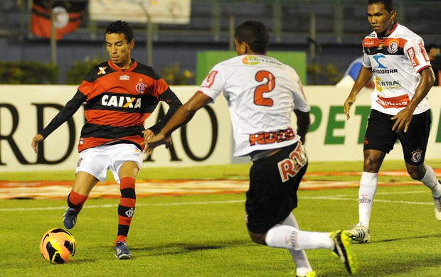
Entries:
[[368, 5], [368, 21], [374, 32], [387, 36], [393, 28], [394, 18], [395, 11], [388, 13], [383, 3]]

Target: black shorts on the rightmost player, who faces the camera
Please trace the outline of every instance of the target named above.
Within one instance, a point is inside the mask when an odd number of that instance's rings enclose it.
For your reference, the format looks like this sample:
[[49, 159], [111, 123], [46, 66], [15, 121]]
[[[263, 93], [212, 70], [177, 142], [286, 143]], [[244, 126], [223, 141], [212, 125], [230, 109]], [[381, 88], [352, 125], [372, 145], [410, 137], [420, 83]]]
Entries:
[[411, 165], [424, 163], [427, 142], [430, 133], [430, 110], [422, 114], [415, 114], [410, 121], [408, 131], [395, 132], [392, 126], [395, 120], [390, 114], [383, 114], [374, 109], [368, 119], [368, 128], [364, 136], [363, 151], [368, 149], [389, 153], [393, 145], [400, 141], [403, 148], [404, 160]]

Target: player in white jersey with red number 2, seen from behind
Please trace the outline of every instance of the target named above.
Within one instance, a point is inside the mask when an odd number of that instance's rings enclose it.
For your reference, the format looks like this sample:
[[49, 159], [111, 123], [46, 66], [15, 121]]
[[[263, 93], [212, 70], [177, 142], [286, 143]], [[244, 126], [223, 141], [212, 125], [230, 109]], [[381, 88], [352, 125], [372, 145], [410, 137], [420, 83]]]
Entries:
[[[269, 36], [265, 25], [246, 21], [235, 30], [238, 56], [218, 63], [200, 89], [176, 112], [153, 139], [147, 153], [170, 143], [171, 133], [222, 92], [228, 101], [235, 139], [235, 156], [250, 156], [250, 188], [246, 193], [246, 222], [257, 244], [289, 249], [297, 276], [316, 276], [304, 249], [329, 249], [356, 271], [349, 234], [299, 230], [292, 210], [297, 188], [307, 170], [304, 151], [309, 129], [309, 104], [292, 67], [266, 55]], [[297, 116], [297, 130], [291, 123]]]

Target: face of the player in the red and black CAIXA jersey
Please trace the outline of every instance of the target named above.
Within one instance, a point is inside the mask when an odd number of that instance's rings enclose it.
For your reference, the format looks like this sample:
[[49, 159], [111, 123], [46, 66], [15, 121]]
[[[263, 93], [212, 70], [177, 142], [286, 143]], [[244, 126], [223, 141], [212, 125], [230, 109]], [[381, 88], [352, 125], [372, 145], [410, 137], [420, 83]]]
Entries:
[[112, 63], [122, 69], [129, 68], [131, 63], [130, 50], [133, 48], [134, 40], [127, 43], [123, 33], [107, 33], [105, 40], [106, 49]]

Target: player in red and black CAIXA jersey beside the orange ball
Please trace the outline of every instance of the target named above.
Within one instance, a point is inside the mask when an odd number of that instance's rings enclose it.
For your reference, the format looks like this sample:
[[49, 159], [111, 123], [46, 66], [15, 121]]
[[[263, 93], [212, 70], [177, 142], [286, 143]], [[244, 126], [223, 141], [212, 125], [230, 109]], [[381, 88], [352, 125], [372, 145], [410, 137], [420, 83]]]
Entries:
[[[142, 142], [144, 136], [157, 134], [182, 103], [152, 67], [130, 57], [134, 37], [128, 23], [110, 23], [105, 31], [105, 43], [110, 60], [90, 70], [74, 97], [33, 137], [32, 148], [37, 151], [38, 143], [70, 119], [85, 102], [86, 123], [78, 143], [80, 159], [68, 195], [64, 225], [68, 229], [74, 227], [90, 191], [98, 181], [105, 182], [110, 169], [121, 190], [115, 256], [130, 259], [132, 254], [126, 240], [136, 202], [135, 178], [142, 166]], [[169, 110], [157, 124], [145, 129], [144, 121], [159, 101], [166, 102]]]

